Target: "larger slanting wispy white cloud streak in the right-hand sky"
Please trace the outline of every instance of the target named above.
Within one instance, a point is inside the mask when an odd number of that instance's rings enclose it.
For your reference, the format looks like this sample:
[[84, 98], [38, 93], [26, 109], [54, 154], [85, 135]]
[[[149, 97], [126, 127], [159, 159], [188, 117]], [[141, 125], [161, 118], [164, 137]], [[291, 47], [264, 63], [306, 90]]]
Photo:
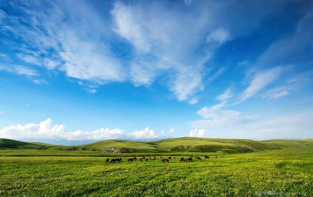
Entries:
[[275, 81], [288, 67], [276, 67], [266, 71], [261, 71], [255, 74], [251, 80], [250, 85], [246, 88], [243, 93], [242, 100], [252, 97], [260, 90], [268, 86], [270, 83]]

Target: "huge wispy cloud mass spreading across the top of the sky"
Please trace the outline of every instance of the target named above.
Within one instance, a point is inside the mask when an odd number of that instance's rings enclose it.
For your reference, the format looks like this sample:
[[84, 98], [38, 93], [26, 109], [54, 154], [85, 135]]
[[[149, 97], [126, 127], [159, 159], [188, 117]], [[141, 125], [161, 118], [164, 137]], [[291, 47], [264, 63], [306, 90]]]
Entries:
[[[114, 1], [107, 15], [89, 1], [17, 1], [11, 8], [20, 17], [2, 11], [0, 18], [3, 31], [21, 40], [8, 41], [25, 62], [98, 85], [132, 81], [149, 86], [162, 78], [179, 100], [190, 100], [223, 73], [219, 67], [211, 76], [207, 72], [221, 44], [284, 7], [282, 2], [191, 2]], [[188, 12], [181, 4], [189, 5]]]

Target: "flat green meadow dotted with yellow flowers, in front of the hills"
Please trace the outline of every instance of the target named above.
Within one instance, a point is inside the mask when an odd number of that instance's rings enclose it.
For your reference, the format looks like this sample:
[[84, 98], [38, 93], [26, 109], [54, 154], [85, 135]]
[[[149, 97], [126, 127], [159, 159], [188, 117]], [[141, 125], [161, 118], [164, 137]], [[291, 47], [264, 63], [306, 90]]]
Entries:
[[109, 164], [107, 157], [2, 156], [0, 196], [313, 195], [311, 148], [201, 157], [187, 163], [174, 155], [170, 163], [130, 163], [118, 154], [123, 162]]

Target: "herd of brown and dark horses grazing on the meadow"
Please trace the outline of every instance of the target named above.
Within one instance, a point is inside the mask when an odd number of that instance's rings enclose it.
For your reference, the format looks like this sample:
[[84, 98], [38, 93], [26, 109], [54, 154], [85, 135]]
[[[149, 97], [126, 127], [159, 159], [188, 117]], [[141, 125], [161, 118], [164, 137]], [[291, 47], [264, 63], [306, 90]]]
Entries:
[[[221, 157], [223, 157], [223, 155], [221, 155]], [[182, 162], [193, 161], [192, 158], [193, 158], [192, 156], [190, 158], [180, 158], [179, 161], [182, 161]], [[209, 159], [210, 156], [205, 155], [204, 158], [205, 159]], [[215, 156], [215, 158], [217, 158], [217, 156]], [[148, 160], [158, 160], [158, 159], [161, 159], [163, 163], [166, 163], [166, 162], [169, 163], [170, 160], [172, 159], [172, 157], [168, 157], [168, 158], [162, 158], [162, 157], [160, 157], [160, 158], [156, 158], [156, 157], [154, 157], [154, 158], [152, 158], [152, 157], [145, 158], [145, 157], [141, 157], [141, 158], [138, 159], [138, 161], [141, 162], [142, 160], [148, 161]], [[176, 159], [176, 158], [174, 158], [174, 159]], [[133, 161], [136, 161], [136, 160], [137, 160], [137, 158], [128, 158], [127, 159], [128, 162], [133, 162]], [[195, 157], [195, 160], [201, 160], [201, 158], [200, 157]], [[109, 162], [110, 163], [122, 162], [122, 158], [112, 158], [111, 161], [110, 161], [109, 158], [107, 158], [106, 163], [109, 163]]]

